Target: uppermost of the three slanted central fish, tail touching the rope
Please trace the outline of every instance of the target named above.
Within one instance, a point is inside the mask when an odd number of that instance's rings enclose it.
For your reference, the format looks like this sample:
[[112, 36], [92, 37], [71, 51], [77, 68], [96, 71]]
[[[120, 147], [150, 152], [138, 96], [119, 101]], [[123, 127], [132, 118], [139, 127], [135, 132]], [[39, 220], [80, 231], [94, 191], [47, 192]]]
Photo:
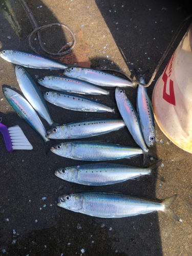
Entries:
[[77, 78], [96, 84], [97, 86], [106, 87], [135, 87], [135, 84], [129, 80], [111, 75], [102, 71], [86, 68], [69, 68], [63, 73], [65, 76]]

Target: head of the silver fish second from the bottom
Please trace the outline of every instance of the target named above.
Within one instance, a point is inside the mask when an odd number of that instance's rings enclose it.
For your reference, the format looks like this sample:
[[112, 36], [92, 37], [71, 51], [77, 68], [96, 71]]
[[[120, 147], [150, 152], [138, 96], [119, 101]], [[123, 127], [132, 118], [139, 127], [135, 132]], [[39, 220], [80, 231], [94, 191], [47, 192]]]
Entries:
[[75, 181], [78, 177], [77, 169], [74, 167], [59, 168], [56, 170], [55, 175], [62, 180]]

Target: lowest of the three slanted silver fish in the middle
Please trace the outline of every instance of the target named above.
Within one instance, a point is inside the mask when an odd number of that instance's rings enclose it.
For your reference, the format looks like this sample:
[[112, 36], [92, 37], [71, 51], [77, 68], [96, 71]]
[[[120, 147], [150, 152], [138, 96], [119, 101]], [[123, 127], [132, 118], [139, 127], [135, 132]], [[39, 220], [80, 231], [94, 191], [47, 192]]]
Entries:
[[114, 109], [107, 105], [72, 93], [47, 92], [44, 94], [44, 98], [50, 103], [68, 110], [80, 112], [115, 112]]

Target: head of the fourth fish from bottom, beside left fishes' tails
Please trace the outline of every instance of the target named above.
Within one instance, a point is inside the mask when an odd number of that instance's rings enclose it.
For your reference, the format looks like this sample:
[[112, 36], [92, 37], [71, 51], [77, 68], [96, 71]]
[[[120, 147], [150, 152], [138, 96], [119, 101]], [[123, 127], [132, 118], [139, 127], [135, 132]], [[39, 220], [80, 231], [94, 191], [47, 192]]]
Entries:
[[68, 127], [66, 125], [58, 125], [47, 131], [49, 139], [68, 139]]

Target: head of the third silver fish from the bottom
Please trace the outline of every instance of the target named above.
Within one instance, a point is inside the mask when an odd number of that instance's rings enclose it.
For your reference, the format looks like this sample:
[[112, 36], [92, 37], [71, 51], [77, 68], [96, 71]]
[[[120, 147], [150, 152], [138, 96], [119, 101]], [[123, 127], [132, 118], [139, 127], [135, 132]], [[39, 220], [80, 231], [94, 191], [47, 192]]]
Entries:
[[61, 157], [70, 157], [72, 153], [72, 144], [70, 142], [59, 143], [51, 146], [50, 150]]

